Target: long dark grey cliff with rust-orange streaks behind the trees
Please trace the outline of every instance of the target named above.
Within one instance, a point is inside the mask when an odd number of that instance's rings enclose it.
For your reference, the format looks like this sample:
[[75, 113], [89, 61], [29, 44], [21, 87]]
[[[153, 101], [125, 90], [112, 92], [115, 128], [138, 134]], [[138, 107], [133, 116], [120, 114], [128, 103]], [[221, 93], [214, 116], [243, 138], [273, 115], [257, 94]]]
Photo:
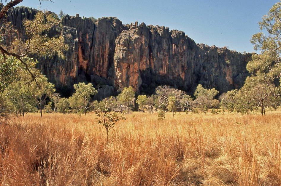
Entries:
[[[35, 14], [34, 9], [17, 7], [7, 19], [24, 38], [22, 20]], [[115, 17], [93, 20], [66, 15], [49, 34], [65, 36], [66, 60], [40, 58], [38, 68], [66, 96], [78, 82], [91, 82], [98, 89], [96, 99], [125, 86], [151, 94], [164, 84], [189, 93], [202, 84], [222, 93], [243, 85], [251, 59], [251, 54], [196, 44], [182, 31], [137, 22], [123, 25]]]

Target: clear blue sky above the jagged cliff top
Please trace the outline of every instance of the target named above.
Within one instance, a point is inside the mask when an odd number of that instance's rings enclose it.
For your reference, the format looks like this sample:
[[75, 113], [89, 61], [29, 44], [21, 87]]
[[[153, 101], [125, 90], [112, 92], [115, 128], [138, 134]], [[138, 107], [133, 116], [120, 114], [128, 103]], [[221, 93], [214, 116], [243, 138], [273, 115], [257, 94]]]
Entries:
[[254, 52], [251, 36], [277, 0], [23, 0], [20, 6], [62, 10], [80, 17], [118, 17], [123, 24], [144, 22], [184, 31], [196, 43]]

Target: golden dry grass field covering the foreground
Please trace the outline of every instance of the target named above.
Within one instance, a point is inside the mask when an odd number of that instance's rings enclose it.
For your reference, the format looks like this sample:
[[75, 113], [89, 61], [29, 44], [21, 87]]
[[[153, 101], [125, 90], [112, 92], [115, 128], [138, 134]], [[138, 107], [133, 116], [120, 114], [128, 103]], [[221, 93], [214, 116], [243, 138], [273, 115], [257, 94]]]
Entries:
[[27, 114], [0, 126], [1, 185], [281, 185], [281, 113]]

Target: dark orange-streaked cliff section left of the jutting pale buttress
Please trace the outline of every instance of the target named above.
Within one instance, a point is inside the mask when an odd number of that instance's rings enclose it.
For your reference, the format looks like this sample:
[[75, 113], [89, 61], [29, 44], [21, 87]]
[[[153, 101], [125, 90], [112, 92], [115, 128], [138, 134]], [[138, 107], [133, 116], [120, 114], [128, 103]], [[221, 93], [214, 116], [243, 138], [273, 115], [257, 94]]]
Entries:
[[113, 55], [115, 39], [124, 30], [121, 21], [110, 17], [95, 23], [91, 19], [65, 16], [61, 28], [69, 45], [66, 60], [41, 59], [38, 67], [42, 72], [61, 91], [69, 92], [73, 84], [82, 81], [99, 89], [97, 99], [114, 94]]

